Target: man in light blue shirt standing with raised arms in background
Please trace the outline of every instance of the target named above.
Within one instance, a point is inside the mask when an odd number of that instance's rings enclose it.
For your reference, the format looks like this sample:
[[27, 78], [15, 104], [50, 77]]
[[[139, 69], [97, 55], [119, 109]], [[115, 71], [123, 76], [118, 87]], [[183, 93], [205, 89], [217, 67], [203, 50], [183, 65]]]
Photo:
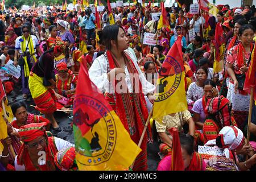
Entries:
[[88, 44], [91, 43], [92, 39], [95, 39], [95, 16], [91, 9], [85, 10], [85, 16], [82, 18], [82, 23], [85, 24], [85, 30], [87, 35]]

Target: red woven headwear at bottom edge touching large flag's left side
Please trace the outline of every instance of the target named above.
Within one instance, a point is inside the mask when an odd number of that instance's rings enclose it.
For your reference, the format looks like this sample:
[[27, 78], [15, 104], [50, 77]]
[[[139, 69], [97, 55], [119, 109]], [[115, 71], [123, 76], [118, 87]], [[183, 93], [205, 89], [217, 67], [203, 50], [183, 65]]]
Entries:
[[54, 157], [54, 163], [61, 171], [68, 171], [70, 169], [73, 169], [73, 163], [76, 162], [75, 158], [75, 147], [67, 147], [57, 152]]

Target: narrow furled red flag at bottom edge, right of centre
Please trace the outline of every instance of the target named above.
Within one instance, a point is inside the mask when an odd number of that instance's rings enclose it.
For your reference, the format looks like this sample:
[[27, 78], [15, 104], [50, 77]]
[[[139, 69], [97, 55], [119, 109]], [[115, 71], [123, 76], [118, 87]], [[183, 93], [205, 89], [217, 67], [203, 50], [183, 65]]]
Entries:
[[183, 162], [182, 154], [181, 154], [179, 133], [175, 127], [172, 127], [168, 131], [172, 135], [171, 171], [184, 171], [184, 162]]

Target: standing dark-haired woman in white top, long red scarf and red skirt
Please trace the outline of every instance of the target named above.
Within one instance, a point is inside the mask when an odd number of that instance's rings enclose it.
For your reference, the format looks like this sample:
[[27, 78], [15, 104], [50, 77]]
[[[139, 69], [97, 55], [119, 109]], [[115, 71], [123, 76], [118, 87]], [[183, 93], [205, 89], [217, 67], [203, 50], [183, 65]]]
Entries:
[[[92, 67], [89, 69], [89, 77], [98, 89], [105, 93], [106, 100], [111, 103], [131, 139], [138, 144], [148, 117], [145, 98], [151, 101], [154, 100], [155, 86], [147, 82], [138, 67], [134, 52], [127, 49], [128, 39], [122, 27], [117, 25], [106, 26], [99, 37], [103, 40], [107, 51], [105, 55], [101, 55], [94, 60]], [[130, 75], [134, 74], [139, 75], [136, 85], [133, 85], [130, 80]], [[116, 78], [114, 80], [110, 75], [125, 77], [122, 88], [117, 86], [120, 79]], [[113, 87], [110, 81], [114, 81]], [[138, 90], [138, 88], [141, 89]], [[137, 93], [133, 92], [134, 89], [137, 90]], [[148, 126], [147, 133], [144, 136], [141, 145], [142, 152], [135, 160], [133, 170], [147, 169], [147, 138], [151, 140], [150, 126]]]

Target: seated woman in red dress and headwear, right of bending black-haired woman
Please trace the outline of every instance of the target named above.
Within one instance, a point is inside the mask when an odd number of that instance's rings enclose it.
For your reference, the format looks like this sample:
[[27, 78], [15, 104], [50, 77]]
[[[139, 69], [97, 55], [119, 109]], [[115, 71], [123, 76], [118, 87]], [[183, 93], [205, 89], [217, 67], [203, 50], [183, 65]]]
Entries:
[[60, 63], [56, 67], [56, 91], [60, 97], [65, 97], [67, 100], [60, 99], [57, 101], [57, 109], [68, 110], [73, 104], [76, 92], [77, 77], [68, 71], [67, 64]]

